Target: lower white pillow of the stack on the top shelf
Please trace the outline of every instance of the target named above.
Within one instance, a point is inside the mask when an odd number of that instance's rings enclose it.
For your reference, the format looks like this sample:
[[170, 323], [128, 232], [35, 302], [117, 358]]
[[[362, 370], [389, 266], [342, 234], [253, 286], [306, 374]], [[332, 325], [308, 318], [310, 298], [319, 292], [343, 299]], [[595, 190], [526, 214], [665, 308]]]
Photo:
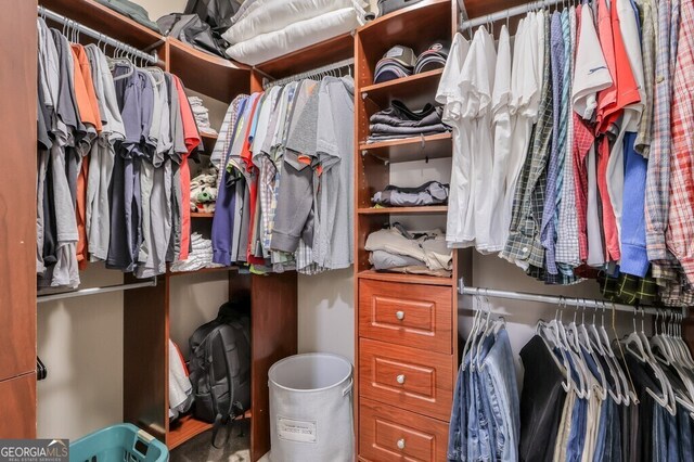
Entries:
[[231, 46], [227, 54], [232, 60], [254, 66], [351, 31], [358, 25], [355, 9], [343, 8]]

